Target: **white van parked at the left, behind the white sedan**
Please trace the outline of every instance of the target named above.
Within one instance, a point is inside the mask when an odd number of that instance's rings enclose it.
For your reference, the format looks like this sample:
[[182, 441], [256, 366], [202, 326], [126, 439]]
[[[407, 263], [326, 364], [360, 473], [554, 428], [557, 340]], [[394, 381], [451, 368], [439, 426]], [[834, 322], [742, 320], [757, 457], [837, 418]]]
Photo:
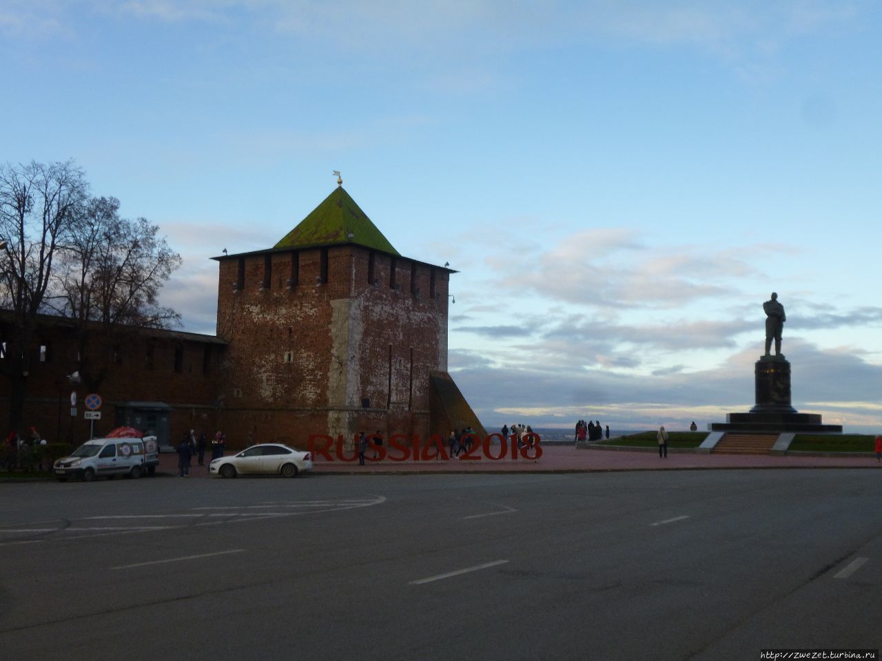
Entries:
[[75, 449], [70, 457], [58, 459], [53, 471], [62, 482], [68, 478], [91, 482], [116, 475], [139, 478], [146, 470], [145, 463], [144, 442], [139, 438], [93, 438]]

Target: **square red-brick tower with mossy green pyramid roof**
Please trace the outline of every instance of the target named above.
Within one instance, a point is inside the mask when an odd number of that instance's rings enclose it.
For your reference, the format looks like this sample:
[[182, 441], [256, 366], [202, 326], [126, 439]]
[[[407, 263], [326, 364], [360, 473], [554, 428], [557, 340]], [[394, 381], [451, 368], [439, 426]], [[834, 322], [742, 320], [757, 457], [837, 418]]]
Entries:
[[341, 185], [273, 248], [214, 259], [228, 438], [484, 433], [447, 374], [456, 271], [400, 256]]

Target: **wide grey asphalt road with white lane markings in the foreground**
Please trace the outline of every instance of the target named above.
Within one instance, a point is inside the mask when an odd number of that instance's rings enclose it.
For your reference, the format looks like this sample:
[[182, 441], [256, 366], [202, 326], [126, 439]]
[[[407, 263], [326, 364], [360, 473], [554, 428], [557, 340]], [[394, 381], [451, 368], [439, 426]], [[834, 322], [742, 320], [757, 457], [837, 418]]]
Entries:
[[862, 470], [0, 485], [4, 658], [880, 647]]

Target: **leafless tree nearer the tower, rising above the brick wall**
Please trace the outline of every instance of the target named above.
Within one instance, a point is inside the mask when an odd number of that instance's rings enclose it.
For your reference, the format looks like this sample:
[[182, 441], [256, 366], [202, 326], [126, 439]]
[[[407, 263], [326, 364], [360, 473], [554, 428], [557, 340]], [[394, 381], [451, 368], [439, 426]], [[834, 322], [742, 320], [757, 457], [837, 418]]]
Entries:
[[180, 316], [158, 294], [181, 265], [159, 228], [123, 219], [119, 200], [94, 197], [82, 208], [63, 249], [49, 298], [57, 314], [75, 320], [78, 371], [97, 391], [115, 357], [144, 328], [170, 328]]

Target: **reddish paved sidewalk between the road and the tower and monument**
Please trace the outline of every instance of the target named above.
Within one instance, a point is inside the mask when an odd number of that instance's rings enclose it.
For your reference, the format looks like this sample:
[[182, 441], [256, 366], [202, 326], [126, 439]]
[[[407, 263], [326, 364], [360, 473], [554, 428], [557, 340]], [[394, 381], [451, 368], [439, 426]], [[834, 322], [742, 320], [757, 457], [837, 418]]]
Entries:
[[[228, 453], [229, 454], [229, 453]], [[382, 475], [419, 473], [487, 473], [487, 472], [602, 472], [602, 471], [663, 471], [708, 470], [745, 468], [882, 468], [873, 455], [862, 457], [775, 457], [771, 455], [718, 455], [696, 454], [689, 451], [668, 450], [668, 457], [660, 459], [657, 452], [629, 451], [620, 449], [575, 449], [570, 445], [542, 447], [542, 457], [536, 461], [518, 458], [494, 461], [475, 452], [478, 461], [453, 458], [450, 460], [403, 461], [385, 459], [364, 466], [357, 461], [350, 463], [329, 462], [319, 458], [314, 462], [313, 473], [318, 475]], [[198, 466], [194, 457], [190, 469], [191, 478], [208, 476], [206, 465]], [[177, 455], [163, 453], [159, 472], [177, 475]]]

